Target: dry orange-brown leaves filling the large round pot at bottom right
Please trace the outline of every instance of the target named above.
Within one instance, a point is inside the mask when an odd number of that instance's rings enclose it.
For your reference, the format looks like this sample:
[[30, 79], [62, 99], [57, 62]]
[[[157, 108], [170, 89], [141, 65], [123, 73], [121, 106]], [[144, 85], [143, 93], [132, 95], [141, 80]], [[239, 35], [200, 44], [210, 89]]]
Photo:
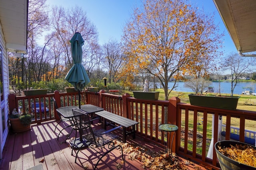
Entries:
[[218, 150], [232, 160], [256, 167], [256, 150], [250, 145], [236, 144], [236, 146], [230, 145], [224, 148], [218, 146]]

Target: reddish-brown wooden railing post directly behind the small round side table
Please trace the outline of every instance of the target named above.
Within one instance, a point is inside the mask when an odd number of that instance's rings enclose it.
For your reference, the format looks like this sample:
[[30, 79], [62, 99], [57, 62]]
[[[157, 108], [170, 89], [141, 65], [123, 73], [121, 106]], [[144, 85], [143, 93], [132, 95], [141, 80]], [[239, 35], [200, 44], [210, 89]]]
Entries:
[[[177, 103], [180, 103], [180, 99], [178, 97], [172, 97], [169, 99], [169, 106], [168, 106], [168, 117], [167, 117], [167, 122], [171, 123], [173, 125], [177, 125]], [[171, 134], [173, 135], [173, 133]], [[176, 147], [176, 139], [177, 136], [179, 135], [178, 131], [176, 131], [174, 139], [173, 139], [173, 143], [172, 143], [172, 152], [176, 152], [176, 150], [178, 150], [178, 147]], [[172, 139], [173, 136], [171, 136]], [[171, 146], [168, 146], [169, 148]]]

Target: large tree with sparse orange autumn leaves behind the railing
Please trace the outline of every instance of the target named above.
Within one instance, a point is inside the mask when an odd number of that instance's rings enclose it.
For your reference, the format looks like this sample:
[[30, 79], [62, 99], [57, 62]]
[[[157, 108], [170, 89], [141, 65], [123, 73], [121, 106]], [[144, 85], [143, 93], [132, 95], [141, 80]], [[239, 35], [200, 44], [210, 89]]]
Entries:
[[214, 24], [214, 14], [206, 15], [184, 0], [145, 0], [135, 9], [124, 27], [126, 64], [120, 73], [147, 73], [158, 78], [165, 100], [176, 87], [171, 78], [183, 75], [200, 78], [214, 68], [220, 56], [222, 33]]

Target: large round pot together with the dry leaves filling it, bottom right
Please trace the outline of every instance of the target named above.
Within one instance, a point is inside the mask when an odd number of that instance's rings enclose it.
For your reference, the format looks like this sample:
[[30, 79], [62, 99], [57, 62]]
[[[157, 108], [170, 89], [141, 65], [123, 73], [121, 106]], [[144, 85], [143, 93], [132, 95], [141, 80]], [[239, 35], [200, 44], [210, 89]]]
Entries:
[[239, 141], [218, 141], [214, 145], [222, 170], [256, 170], [256, 147]]

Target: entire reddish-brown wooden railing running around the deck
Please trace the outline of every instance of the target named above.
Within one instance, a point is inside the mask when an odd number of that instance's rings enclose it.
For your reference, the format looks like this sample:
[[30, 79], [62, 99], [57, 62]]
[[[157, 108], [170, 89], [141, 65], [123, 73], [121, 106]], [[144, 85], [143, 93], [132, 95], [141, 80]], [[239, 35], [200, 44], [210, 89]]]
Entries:
[[[77, 93], [59, 93], [47, 94], [44, 96], [16, 96], [9, 97], [9, 102], [16, 103], [12, 108], [18, 108], [20, 104], [23, 106], [23, 111], [30, 106], [31, 101], [42, 101], [44, 106], [49, 107], [50, 115], [44, 118], [41, 115], [40, 119], [35, 119], [35, 123], [40, 123], [49, 119], [58, 119], [57, 115], [52, 113], [54, 97], [63, 106], [78, 105]], [[244, 142], [244, 131], [247, 121], [256, 121], [256, 111], [246, 110], [225, 110], [208, 107], [192, 106], [190, 104], [180, 103], [180, 99], [173, 97], [168, 101], [162, 100], [138, 100], [131, 97], [129, 94], [122, 96], [100, 92], [82, 93], [82, 101], [86, 104], [92, 104], [104, 108], [107, 111], [127, 117], [129, 119], [140, 122], [136, 127], [136, 135], [143, 137], [146, 141], [164, 144], [164, 139], [161, 137], [161, 132], [158, 126], [162, 123], [172, 123], [179, 127], [178, 132], [174, 137], [172, 151], [176, 151], [178, 155], [183, 155], [187, 158], [200, 162], [210, 168], [218, 169], [220, 166], [216, 158], [216, 152], [213, 145], [220, 137], [218, 129], [220, 118], [222, 123], [226, 124], [226, 139], [230, 139], [230, 127], [234, 126], [233, 121], [238, 123], [240, 129], [240, 141]], [[11, 102], [10, 102], [11, 103]], [[48, 105], [49, 104], [49, 105]], [[30, 108], [28, 108], [30, 111]], [[166, 115], [166, 116], [165, 116]], [[254, 123], [256, 124], [256, 123]], [[213, 135], [212, 135], [213, 134]], [[211, 156], [209, 156], [209, 153]]]

